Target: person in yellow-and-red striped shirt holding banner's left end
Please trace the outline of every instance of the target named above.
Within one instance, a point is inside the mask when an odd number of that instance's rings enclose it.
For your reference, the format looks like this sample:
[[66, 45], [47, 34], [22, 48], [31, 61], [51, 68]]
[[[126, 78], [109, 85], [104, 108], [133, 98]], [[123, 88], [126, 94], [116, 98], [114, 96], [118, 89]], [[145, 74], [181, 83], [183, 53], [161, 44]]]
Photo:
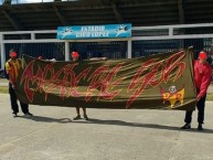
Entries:
[[[10, 50], [10, 60], [6, 63], [6, 73], [8, 75], [9, 81], [9, 94], [10, 94], [10, 102], [11, 102], [11, 108], [13, 110], [14, 117], [17, 117], [17, 114], [19, 113], [19, 106], [18, 106], [18, 98], [15, 95], [15, 83], [19, 75], [19, 71], [21, 68], [21, 60], [17, 58], [17, 52], [12, 49]], [[24, 116], [32, 116], [31, 113], [29, 113], [29, 105], [20, 102], [21, 110], [24, 114]]]

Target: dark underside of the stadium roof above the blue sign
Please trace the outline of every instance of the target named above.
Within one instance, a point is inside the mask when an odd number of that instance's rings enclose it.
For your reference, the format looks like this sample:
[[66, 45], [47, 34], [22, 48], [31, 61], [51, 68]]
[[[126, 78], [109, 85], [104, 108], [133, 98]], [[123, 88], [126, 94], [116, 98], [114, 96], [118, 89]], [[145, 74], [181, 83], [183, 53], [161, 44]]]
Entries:
[[212, 23], [213, 0], [76, 0], [0, 6], [0, 31], [56, 30], [63, 25], [134, 26]]

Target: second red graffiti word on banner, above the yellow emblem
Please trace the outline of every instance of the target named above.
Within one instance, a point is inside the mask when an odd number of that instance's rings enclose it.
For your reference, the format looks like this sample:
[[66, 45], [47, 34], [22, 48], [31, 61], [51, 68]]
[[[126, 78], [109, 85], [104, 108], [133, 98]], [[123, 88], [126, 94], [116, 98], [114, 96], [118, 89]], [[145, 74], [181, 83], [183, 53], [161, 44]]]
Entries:
[[158, 86], [162, 82], [168, 83], [170, 76], [175, 82], [185, 68], [185, 63], [181, 62], [184, 56], [184, 52], [178, 52], [163, 61], [151, 58], [145, 62], [127, 88], [127, 92], [134, 90], [134, 94], [128, 99], [126, 107], [128, 108], [148, 85]]

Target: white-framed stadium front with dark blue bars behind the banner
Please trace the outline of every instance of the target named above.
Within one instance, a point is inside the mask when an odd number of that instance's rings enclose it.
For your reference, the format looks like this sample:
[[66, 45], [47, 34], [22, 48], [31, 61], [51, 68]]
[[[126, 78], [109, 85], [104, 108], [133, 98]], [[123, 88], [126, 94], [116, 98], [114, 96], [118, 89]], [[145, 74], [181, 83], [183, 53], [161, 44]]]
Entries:
[[68, 61], [70, 52], [74, 47], [82, 49], [81, 43], [84, 43], [85, 57], [103, 52], [106, 55], [114, 54], [109, 56], [111, 58], [130, 58], [189, 46], [194, 47], [195, 56], [201, 50], [213, 56], [213, 23], [134, 26], [132, 36], [128, 39], [57, 40], [56, 30], [0, 32], [1, 67], [11, 47], [18, 49], [20, 54], [38, 56], [45, 53], [46, 57], [58, 56], [60, 60]]

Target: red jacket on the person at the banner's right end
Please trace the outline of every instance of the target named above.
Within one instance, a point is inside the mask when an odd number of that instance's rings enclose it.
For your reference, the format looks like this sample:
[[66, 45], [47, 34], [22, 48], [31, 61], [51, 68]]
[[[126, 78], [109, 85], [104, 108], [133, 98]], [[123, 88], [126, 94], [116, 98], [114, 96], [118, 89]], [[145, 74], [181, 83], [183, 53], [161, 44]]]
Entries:
[[209, 63], [202, 64], [199, 60], [194, 61], [194, 83], [200, 89], [198, 97], [203, 97], [210, 86], [212, 67]]

